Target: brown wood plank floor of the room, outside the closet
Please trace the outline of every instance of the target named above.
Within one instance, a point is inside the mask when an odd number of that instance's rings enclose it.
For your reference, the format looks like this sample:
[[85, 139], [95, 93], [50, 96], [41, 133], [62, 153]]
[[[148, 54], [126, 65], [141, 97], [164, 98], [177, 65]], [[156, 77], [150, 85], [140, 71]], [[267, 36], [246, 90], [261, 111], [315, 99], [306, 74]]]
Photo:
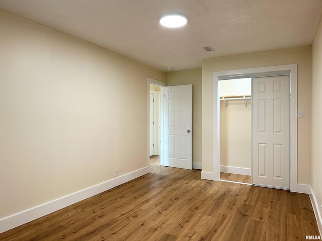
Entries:
[[[157, 157], [155, 157], [157, 158]], [[0, 234], [0, 240], [305, 240], [319, 235], [308, 195], [150, 173]]]

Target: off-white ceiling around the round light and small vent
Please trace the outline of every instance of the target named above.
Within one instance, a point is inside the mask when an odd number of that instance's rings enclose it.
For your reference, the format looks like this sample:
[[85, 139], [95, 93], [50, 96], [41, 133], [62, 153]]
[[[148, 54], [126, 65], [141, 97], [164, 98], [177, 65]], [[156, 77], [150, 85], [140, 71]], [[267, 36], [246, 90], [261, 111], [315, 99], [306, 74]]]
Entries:
[[[0, 0], [0, 9], [163, 71], [199, 68], [202, 59], [312, 43], [321, 0]], [[188, 24], [166, 29], [161, 15]], [[202, 47], [215, 49], [206, 52]]]

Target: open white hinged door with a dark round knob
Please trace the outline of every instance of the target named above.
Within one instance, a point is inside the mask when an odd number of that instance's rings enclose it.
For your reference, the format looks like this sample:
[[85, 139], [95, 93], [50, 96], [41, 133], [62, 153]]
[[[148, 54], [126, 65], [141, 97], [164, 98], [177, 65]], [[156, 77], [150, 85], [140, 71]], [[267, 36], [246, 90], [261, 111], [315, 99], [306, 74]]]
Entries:
[[192, 169], [192, 85], [164, 91], [164, 165]]

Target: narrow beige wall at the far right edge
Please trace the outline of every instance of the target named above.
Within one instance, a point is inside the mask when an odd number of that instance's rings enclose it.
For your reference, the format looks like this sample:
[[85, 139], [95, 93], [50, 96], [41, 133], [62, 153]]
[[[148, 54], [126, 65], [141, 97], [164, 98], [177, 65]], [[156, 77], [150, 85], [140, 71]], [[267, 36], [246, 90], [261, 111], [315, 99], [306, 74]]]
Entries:
[[312, 45], [312, 139], [311, 187], [322, 205], [322, 23], [320, 22]]

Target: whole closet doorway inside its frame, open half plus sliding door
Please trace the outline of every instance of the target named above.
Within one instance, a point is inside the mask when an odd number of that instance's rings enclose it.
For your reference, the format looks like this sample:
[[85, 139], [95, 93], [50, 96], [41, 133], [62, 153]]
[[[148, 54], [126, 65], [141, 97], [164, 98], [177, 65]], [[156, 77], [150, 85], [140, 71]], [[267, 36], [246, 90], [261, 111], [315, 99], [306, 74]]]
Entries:
[[221, 80], [218, 88], [220, 178], [289, 189], [289, 75]]

